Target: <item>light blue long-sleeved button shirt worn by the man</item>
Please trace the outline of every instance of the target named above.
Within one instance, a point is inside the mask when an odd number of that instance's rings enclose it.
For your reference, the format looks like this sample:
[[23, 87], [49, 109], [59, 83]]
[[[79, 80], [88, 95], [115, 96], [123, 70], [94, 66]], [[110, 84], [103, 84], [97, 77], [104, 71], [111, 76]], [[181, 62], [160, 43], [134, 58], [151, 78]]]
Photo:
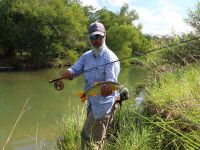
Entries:
[[[113, 62], [116, 60], [118, 60], [117, 56], [106, 45], [104, 45], [101, 48], [101, 52], [98, 54], [98, 56], [94, 56], [92, 50], [87, 51], [69, 69], [75, 75], [78, 76], [78, 74], [82, 73], [83, 71], [96, 67], [95, 69], [91, 69], [89, 71], [84, 72], [84, 79], [85, 79], [84, 90], [87, 90], [88, 88], [94, 85], [94, 82], [99, 82], [99, 81], [117, 82], [117, 78], [120, 72], [119, 61], [104, 65], [106, 63]], [[97, 67], [100, 65], [104, 66]], [[118, 91], [116, 91], [107, 97], [103, 97], [101, 95], [88, 96], [87, 108], [91, 106], [95, 119], [105, 117], [111, 112], [116, 96], [118, 95], [119, 93]]]

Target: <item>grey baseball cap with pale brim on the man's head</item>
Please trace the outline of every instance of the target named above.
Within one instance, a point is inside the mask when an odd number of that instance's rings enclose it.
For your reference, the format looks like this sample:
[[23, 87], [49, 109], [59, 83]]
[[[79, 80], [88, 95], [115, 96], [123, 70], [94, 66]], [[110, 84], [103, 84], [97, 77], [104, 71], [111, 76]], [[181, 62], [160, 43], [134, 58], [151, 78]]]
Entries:
[[94, 23], [90, 24], [90, 26], [88, 28], [89, 37], [96, 35], [96, 34], [105, 36], [105, 32], [106, 32], [105, 27], [100, 22], [94, 22]]

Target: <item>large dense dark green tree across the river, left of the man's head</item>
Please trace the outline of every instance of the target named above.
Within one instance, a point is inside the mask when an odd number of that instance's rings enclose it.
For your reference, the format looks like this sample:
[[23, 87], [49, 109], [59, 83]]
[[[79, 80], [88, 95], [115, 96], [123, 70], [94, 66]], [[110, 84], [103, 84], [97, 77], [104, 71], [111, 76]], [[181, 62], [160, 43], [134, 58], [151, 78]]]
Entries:
[[2, 0], [0, 11], [0, 45], [8, 58], [26, 53], [32, 65], [39, 67], [65, 47], [86, 45], [87, 19], [78, 3]]

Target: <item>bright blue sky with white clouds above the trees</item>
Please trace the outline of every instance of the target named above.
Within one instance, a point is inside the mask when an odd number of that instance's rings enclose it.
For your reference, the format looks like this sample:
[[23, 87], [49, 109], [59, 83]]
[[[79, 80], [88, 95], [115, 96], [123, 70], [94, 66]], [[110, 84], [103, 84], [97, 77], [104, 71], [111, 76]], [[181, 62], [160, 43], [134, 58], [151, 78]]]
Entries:
[[129, 10], [136, 10], [139, 19], [133, 23], [142, 24], [142, 32], [152, 35], [181, 34], [193, 31], [185, 23], [188, 10], [195, 10], [200, 0], [80, 0], [83, 5], [94, 8], [106, 9], [115, 13], [120, 11], [124, 3], [129, 5]]

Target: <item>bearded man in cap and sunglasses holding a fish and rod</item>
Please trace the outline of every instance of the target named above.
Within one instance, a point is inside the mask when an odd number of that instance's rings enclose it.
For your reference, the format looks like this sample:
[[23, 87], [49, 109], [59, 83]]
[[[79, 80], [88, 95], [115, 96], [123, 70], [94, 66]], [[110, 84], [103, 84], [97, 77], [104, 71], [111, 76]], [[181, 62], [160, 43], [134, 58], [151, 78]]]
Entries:
[[[116, 82], [120, 72], [119, 62], [109, 63], [118, 60], [118, 58], [105, 44], [106, 30], [104, 25], [100, 22], [92, 23], [88, 29], [88, 37], [92, 49], [85, 52], [63, 74], [65, 79], [72, 80], [84, 70], [95, 68], [84, 72], [85, 90], [92, 87], [94, 82]], [[88, 96], [87, 118], [81, 132], [82, 149], [101, 149], [107, 127], [113, 117], [114, 104], [118, 95], [118, 92], [112, 92], [109, 85], [103, 84], [101, 95]]]

